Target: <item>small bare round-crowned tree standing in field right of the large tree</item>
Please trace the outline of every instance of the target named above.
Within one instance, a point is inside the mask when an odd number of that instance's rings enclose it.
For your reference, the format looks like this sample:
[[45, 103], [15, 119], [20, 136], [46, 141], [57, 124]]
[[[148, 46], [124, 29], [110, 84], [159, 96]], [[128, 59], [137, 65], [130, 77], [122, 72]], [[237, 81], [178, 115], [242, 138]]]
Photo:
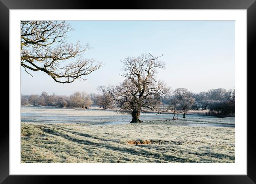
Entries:
[[186, 88], [178, 88], [174, 90], [174, 97], [178, 100], [178, 112], [183, 114], [183, 118], [186, 118], [186, 113], [191, 109], [195, 98], [192, 98], [192, 93]]

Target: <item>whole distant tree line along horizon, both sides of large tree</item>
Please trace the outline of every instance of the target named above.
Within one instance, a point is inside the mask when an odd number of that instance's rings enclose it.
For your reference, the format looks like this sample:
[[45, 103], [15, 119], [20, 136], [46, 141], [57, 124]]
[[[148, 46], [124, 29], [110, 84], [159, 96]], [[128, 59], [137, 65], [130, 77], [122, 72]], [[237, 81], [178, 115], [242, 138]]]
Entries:
[[[102, 87], [103, 88], [103, 87]], [[111, 88], [105, 86], [104, 88]], [[103, 91], [99, 88], [99, 91]], [[172, 92], [169, 97], [162, 98], [158, 93], [154, 94], [151, 103], [155, 106], [167, 105], [167, 110], [173, 113], [173, 119], [177, 114], [182, 114], [186, 118], [189, 110], [207, 110], [207, 115], [211, 116], [235, 116], [235, 88], [225, 90], [223, 88], [211, 89], [207, 92], [192, 93], [186, 88], [178, 88]], [[40, 95], [21, 94], [21, 105], [33, 106], [54, 106], [54, 107], [74, 107], [88, 108], [91, 105], [98, 106], [102, 109], [110, 109], [119, 107], [115, 103], [113, 96], [103, 91], [102, 94], [85, 92], [75, 92], [70, 96], [57, 95], [55, 93], [49, 95], [47, 92], [42, 92]], [[160, 109], [160, 108], [159, 108]], [[163, 108], [164, 109], [164, 108]]]

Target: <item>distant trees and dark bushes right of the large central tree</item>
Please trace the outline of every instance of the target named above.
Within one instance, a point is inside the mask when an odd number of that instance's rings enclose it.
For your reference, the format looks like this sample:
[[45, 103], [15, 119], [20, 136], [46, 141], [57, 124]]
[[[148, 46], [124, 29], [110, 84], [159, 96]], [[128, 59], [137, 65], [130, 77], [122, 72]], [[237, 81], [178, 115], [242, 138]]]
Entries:
[[[183, 114], [188, 110], [209, 110], [211, 116], [235, 116], [235, 88], [225, 90], [223, 88], [211, 89], [208, 92], [192, 93], [186, 88], [174, 90], [170, 98], [161, 99], [161, 102], [169, 105], [173, 112]], [[173, 116], [173, 119], [174, 119]]]

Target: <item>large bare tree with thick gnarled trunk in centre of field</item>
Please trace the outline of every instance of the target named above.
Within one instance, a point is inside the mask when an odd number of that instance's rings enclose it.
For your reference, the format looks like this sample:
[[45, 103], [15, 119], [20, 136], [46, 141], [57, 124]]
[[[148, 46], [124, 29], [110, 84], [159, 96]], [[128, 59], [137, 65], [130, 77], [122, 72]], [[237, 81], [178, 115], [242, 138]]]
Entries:
[[[139, 120], [140, 112], [144, 109], [151, 109], [161, 114], [158, 99], [169, 94], [169, 87], [163, 81], [156, 79], [157, 69], [165, 68], [165, 63], [159, 61], [158, 57], [151, 54], [142, 54], [139, 57], [127, 57], [122, 63], [124, 77], [123, 82], [118, 86], [100, 86], [102, 92], [108, 92], [114, 99], [120, 110], [132, 114], [133, 122]], [[155, 97], [155, 98], [154, 98]]]

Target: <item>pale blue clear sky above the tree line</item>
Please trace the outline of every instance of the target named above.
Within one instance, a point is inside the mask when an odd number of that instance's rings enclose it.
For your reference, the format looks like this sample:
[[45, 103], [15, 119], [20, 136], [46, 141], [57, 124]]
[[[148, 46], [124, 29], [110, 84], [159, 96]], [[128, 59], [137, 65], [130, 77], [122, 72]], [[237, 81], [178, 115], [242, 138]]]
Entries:
[[199, 93], [211, 88], [235, 87], [235, 21], [67, 21], [74, 31], [68, 41], [93, 47], [84, 58], [94, 58], [103, 67], [85, 81], [56, 83], [41, 71], [21, 67], [21, 93], [70, 95], [76, 91], [98, 93], [100, 85], [118, 85], [123, 80], [125, 57], [141, 53], [163, 56], [165, 69], [157, 78], [173, 90], [187, 88]]

